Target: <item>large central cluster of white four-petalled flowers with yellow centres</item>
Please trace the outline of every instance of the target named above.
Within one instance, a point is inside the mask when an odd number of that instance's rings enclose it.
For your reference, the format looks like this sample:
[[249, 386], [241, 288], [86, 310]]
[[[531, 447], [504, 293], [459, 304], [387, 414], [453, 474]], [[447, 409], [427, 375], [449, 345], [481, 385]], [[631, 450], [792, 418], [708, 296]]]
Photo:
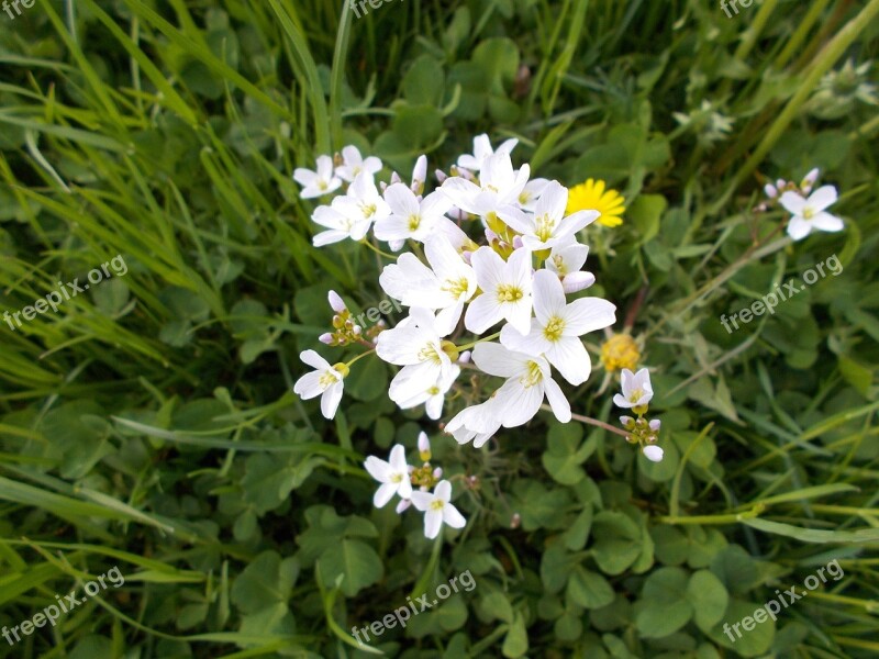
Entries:
[[[343, 194], [314, 211], [312, 219], [325, 228], [314, 236], [315, 246], [346, 238], [367, 243], [370, 228], [372, 237], [394, 252], [410, 245], [379, 277], [382, 290], [409, 308], [408, 316], [378, 333], [375, 343], [344, 327], [337, 339], [374, 348], [380, 359], [400, 367], [388, 392], [398, 406], [423, 404], [427, 416], [438, 420], [463, 368], [503, 379], [487, 401], [466, 407], [445, 426], [458, 443], [474, 442], [476, 447], [501, 427], [527, 423], [544, 400], [556, 418], [570, 421], [570, 405], [553, 369], [572, 386], [586, 382], [591, 361], [580, 337], [616, 321], [616, 308], [607, 300], [567, 300], [596, 281], [582, 271], [589, 248], [578, 243], [577, 234], [600, 213], [567, 214], [568, 189], [558, 181], [530, 180], [528, 165], [515, 169], [510, 156], [515, 145], [510, 139], [494, 150], [488, 136], [478, 136], [474, 153], [457, 159], [452, 176], [436, 172], [442, 183], [429, 194], [425, 156], [418, 159], [410, 185], [393, 174], [389, 185], [380, 186], [381, 193], [375, 180], [381, 163], [364, 159], [353, 146], [335, 161], [321, 156], [316, 171], [298, 169], [294, 175], [303, 197], [330, 193], [348, 182]], [[333, 295], [331, 304], [337, 314], [334, 324], [344, 325], [344, 304]], [[498, 331], [486, 336], [492, 328]], [[465, 331], [469, 336], [461, 338]], [[303, 376], [296, 392], [322, 395], [321, 410], [331, 418], [348, 367], [363, 356], [331, 366], [305, 350], [303, 361], [318, 370]], [[409, 499], [408, 481], [392, 480], [402, 474], [401, 455], [380, 468], [369, 459], [375, 467], [370, 473], [388, 485], [398, 483], [396, 490], [382, 485], [377, 505], [387, 503], [389, 492]], [[441, 510], [437, 502], [447, 504], [447, 490], [450, 485], [441, 482], [434, 494], [439, 499], [421, 503]], [[414, 494], [412, 503], [420, 507], [423, 498]], [[446, 523], [454, 526], [449, 520], [457, 522], [456, 513], [444, 517]], [[436, 524], [425, 527], [429, 537]]]

